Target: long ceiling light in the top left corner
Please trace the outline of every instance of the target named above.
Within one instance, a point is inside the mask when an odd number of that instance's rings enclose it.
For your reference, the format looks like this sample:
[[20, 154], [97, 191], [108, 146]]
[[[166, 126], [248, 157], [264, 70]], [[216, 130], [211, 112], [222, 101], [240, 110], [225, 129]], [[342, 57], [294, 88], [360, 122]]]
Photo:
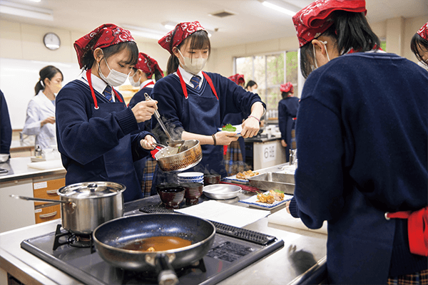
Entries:
[[9, 1], [0, 1], [0, 14], [54, 21], [53, 11], [50, 9], [26, 6]]

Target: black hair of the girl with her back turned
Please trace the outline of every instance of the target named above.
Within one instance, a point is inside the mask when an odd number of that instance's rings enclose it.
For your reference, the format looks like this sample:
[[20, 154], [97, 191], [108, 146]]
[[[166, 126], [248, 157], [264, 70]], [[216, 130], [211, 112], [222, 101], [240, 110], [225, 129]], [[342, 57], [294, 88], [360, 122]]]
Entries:
[[[334, 24], [327, 28], [322, 36], [336, 39], [335, 48], [340, 55], [352, 48], [357, 52], [380, 48], [379, 38], [373, 33], [363, 13], [338, 10], [332, 12], [332, 19]], [[303, 77], [307, 78], [314, 66], [312, 43], [309, 42], [300, 48], [300, 69]]]

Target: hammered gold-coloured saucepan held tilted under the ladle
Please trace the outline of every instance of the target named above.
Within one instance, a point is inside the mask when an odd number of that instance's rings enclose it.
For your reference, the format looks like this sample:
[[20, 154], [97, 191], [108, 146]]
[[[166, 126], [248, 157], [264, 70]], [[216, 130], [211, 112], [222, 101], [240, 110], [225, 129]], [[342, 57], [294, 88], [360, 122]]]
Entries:
[[159, 150], [155, 158], [163, 171], [182, 171], [197, 165], [202, 160], [202, 148], [199, 140], [185, 140], [187, 150], [178, 153], [178, 147], [165, 147]]

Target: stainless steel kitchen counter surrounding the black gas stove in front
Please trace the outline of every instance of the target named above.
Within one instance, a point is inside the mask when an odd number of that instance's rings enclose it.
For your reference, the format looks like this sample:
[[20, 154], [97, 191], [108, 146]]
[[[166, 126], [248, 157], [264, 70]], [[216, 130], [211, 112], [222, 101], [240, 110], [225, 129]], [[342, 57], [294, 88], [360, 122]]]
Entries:
[[[238, 203], [239, 199], [245, 199], [251, 194], [240, 193], [239, 197], [221, 202], [237, 204], [242, 207], [247, 205]], [[207, 199], [207, 198], [203, 198]], [[158, 195], [126, 203], [126, 214], [136, 214], [140, 207], [156, 204], [160, 202]], [[279, 207], [272, 209], [276, 212]], [[327, 236], [317, 232], [295, 229], [292, 227], [270, 224], [267, 217], [245, 226], [250, 229], [265, 234], [271, 234], [285, 242], [281, 249], [267, 255], [254, 264], [238, 271], [233, 276], [220, 281], [220, 285], [236, 284], [317, 284], [322, 280], [325, 270], [325, 254]], [[51, 222], [37, 224], [34, 226], [16, 229], [0, 234], [0, 278], [6, 272], [16, 276], [24, 284], [79, 284], [68, 274], [47, 264], [33, 254], [21, 249], [20, 243], [24, 239], [37, 237], [42, 234], [54, 232], [56, 224], [60, 224], [61, 219]], [[295, 252], [292, 248], [295, 247]], [[310, 261], [305, 262], [305, 261]], [[307, 278], [317, 277], [317, 280]], [[3, 284], [4, 279], [0, 279]]]

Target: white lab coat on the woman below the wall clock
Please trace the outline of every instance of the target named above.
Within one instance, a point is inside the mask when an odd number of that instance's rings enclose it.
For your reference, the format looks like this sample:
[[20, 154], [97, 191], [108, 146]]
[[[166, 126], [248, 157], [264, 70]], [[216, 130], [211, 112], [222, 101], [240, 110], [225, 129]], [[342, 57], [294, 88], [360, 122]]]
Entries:
[[41, 121], [48, 117], [55, 117], [55, 105], [40, 90], [29, 102], [22, 133], [36, 135], [36, 145], [40, 145], [42, 150], [56, 145], [56, 124], [48, 123], [42, 128], [40, 127]]

